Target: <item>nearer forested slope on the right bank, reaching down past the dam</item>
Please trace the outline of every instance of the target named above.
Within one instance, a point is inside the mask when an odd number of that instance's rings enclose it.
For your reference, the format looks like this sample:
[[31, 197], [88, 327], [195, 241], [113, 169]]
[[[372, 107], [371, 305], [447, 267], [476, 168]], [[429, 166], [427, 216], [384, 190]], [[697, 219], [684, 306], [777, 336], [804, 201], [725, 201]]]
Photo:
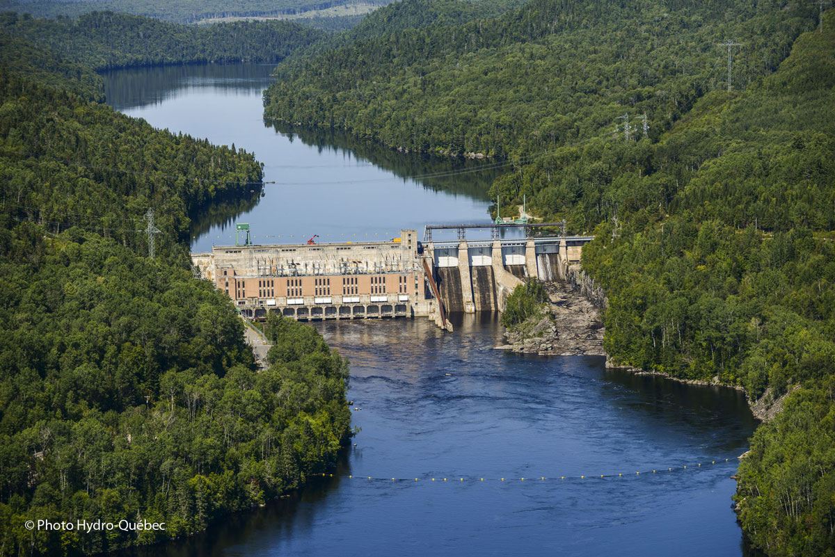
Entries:
[[[623, 364], [788, 394], [742, 459], [742, 528], [771, 555], [835, 554], [835, 49], [805, 33], [777, 73], [716, 94], [610, 186], [584, 267]], [[628, 145], [640, 150], [638, 143]], [[589, 159], [585, 159], [589, 160]], [[590, 162], [590, 161], [589, 161]]]

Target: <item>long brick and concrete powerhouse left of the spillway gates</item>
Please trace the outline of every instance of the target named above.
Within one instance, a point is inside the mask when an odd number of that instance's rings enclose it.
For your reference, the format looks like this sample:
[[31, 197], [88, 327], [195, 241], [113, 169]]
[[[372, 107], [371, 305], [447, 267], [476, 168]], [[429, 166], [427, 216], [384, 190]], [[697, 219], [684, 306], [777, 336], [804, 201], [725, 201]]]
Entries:
[[385, 242], [215, 246], [192, 253], [204, 278], [253, 319], [273, 311], [293, 319], [428, 316], [435, 299], [417, 233]]

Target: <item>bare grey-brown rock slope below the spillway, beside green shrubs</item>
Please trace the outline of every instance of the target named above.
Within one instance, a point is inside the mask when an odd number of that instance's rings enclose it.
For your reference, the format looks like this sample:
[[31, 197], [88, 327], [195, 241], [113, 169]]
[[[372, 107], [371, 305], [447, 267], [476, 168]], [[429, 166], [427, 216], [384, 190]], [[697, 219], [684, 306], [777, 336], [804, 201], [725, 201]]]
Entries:
[[497, 349], [520, 354], [603, 356], [600, 311], [578, 291], [561, 283], [545, 284], [550, 304], [505, 333]]

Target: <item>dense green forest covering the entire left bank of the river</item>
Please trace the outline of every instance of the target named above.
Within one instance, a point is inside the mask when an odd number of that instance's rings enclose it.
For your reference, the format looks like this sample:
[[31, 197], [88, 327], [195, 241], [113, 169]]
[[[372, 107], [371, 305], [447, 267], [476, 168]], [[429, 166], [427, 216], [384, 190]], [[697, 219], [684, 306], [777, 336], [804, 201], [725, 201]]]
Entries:
[[[347, 362], [279, 319], [257, 371], [230, 300], [190, 268], [190, 215], [257, 195], [260, 164], [115, 113], [58, 53], [0, 45], [0, 555], [189, 534], [324, 472], [350, 434]], [[24, 526], [125, 518], [166, 529]]]

